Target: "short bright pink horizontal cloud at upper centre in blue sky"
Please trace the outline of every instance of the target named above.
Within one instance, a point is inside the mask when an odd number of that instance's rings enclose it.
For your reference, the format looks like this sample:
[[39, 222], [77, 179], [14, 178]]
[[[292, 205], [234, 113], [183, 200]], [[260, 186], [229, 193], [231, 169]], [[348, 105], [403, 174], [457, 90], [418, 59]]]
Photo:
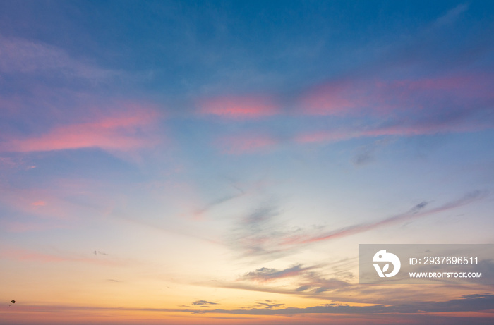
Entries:
[[216, 97], [200, 101], [199, 112], [222, 118], [252, 119], [279, 114], [279, 107], [266, 97]]

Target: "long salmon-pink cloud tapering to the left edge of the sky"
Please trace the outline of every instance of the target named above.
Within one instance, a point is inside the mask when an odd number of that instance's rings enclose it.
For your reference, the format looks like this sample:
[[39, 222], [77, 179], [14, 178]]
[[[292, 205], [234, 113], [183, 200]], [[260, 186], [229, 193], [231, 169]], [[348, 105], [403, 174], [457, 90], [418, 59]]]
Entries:
[[95, 116], [92, 121], [61, 125], [35, 137], [11, 139], [0, 144], [0, 152], [37, 152], [99, 147], [129, 151], [157, 144], [149, 134], [159, 114], [149, 107], [122, 104], [122, 111]]

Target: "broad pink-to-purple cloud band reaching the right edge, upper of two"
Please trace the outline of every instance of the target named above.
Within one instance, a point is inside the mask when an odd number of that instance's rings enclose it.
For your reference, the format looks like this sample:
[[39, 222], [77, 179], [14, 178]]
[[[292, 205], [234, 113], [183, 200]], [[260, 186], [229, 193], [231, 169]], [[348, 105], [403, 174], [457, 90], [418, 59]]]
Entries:
[[491, 75], [449, 75], [406, 80], [352, 80], [329, 82], [308, 90], [301, 99], [307, 115], [361, 116], [390, 114], [430, 107], [432, 111], [456, 106], [471, 109], [494, 98]]

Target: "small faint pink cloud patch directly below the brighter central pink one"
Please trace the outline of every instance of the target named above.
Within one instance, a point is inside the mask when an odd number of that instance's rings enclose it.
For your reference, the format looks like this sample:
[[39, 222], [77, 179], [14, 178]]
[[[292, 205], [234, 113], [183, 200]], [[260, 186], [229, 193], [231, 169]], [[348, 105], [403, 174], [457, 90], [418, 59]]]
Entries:
[[236, 135], [222, 137], [216, 145], [224, 154], [247, 154], [272, 148], [277, 143], [269, 135]]

